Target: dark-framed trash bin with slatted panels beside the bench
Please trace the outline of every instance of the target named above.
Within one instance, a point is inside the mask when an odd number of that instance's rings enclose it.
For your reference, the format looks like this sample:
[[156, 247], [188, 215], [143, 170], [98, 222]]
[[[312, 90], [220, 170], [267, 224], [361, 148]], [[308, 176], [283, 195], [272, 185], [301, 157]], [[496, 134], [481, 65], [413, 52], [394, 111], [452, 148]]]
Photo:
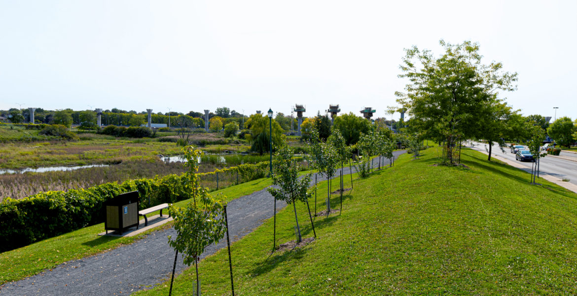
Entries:
[[138, 228], [138, 191], [127, 192], [115, 196], [104, 202], [106, 220], [104, 229], [118, 230], [123, 233], [126, 229], [136, 226]]

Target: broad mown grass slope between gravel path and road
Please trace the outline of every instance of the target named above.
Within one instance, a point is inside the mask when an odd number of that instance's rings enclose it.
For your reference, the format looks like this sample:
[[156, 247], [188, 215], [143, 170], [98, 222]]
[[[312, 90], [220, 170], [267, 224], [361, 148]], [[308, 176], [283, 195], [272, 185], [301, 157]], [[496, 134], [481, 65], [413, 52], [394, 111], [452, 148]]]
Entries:
[[[433, 166], [435, 149], [355, 182], [343, 212], [317, 218], [318, 238], [304, 248], [271, 255], [272, 219], [235, 242], [235, 293], [577, 294], [577, 194], [543, 179], [529, 185], [526, 173], [470, 149], [462, 150], [469, 168]], [[338, 201], [334, 194], [332, 207]], [[306, 207], [297, 210], [311, 237]], [[293, 240], [292, 207], [276, 222], [277, 245]], [[199, 269], [205, 294], [230, 295], [226, 249]], [[190, 268], [173, 293], [192, 295], [193, 282]], [[166, 295], [168, 284], [136, 294]]]

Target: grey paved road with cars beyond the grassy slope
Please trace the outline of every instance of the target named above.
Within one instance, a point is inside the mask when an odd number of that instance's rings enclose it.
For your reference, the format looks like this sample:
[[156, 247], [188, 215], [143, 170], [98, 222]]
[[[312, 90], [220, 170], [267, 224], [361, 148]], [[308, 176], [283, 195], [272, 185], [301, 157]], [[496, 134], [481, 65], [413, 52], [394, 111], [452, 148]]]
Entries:
[[[477, 151], [486, 152], [489, 149], [489, 144], [478, 142], [474, 142], [473, 144], [473, 147], [469, 147]], [[533, 164], [532, 162], [520, 162], [519, 160], [515, 160], [515, 153], [511, 153], [511, 148], [503, 147], [503, 149], [505, 149], [505, 152], [501, 152], [499, 145], [495, 144], [493, 145], [493, 153], [491, 155], [500, 156], [502, 158], [522, 164], [524, 167], [527, 167], [523, 170], [527, 173], [531, 173], [531, 165]], [[570, 152], [561, 152], [561, 156], [565, 158], [574, 158], [575, 161], [547, 155], [544, 158], [541, 158], [539, 171], [559, 179], [569, 179], [569, 183], [577, 185], [577, 155]], [[527, 182], [529, 182], [529, 177], [527, 177]]]

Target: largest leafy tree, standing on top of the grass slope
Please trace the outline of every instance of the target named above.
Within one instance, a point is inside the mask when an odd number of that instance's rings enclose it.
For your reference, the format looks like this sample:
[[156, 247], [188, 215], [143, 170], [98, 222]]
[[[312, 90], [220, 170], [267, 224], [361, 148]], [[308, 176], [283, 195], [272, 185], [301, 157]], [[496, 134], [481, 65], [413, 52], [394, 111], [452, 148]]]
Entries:
[[478, 122], [485, 113], [479, 110], [494, 102], [498, 90], [514, 90], [517, 74], [503, 72], [501, 63], [484, 65], [478, 43], [440, 44], [444, 54], [438, 58], [416, 46], [405, 50], [399, 77], [409, 83], [396, 95], [426, 137], [445, 143], [452, 164], [456, 143], [482, 129]]

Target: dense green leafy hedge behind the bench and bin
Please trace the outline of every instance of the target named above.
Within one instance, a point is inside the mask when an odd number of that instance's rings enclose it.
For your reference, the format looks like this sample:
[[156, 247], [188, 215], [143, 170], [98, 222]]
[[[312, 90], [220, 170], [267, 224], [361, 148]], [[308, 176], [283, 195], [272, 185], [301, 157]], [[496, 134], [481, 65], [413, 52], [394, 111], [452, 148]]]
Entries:
[[[240, 183], [263, 176], [267, 163], [242, 164], [218, 170], [236, 173]], [[209, 175], [206, 173], [199, 175]], [[182, 175], [104, 183], [88, 189], [48, 191], [23, 199], [6, 198], [0, 203], [0, 252], [20, 248], [42, 239], [104, 222], [104, 201], [138, 190], [140, 209], [190, 198]], [[223, 187], [223, 186], [222, 186]]]

